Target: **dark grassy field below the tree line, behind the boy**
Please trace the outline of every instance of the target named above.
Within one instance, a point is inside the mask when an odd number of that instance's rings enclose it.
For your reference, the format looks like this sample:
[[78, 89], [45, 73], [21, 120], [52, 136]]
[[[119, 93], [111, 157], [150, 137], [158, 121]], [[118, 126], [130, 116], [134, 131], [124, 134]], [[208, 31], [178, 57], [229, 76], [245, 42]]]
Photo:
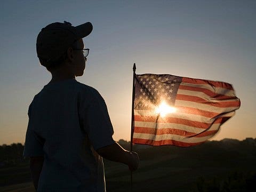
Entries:
[[[254, 188], [256, 146], [223, 148], [223, 143], [215, 144], [191, 148], [134, 146], [140, 166], [133, 172], [133, 191], [250, 191]], [[107, 191], [130, 191], [127, 166], [106, 159], [104, 162]], [[35, 191], [26, 164], [2, 168], [0, 175], [0, 191]]]

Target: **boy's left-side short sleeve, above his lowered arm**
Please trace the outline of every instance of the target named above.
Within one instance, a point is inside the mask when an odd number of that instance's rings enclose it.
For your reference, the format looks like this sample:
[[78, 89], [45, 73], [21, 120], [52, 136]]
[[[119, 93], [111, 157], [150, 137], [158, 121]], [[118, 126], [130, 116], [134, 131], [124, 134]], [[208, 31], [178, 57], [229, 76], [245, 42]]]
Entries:
[[29, 117], [29, 121], [28, 121], [23, 156], [24, 157], [44, 156], [43, 142], [38, 138], [38, 136], [36, 135], [36, 133], [33, 130], [33, 124], [31, 121], [31, 119], [32, 119], [31, 104], [28, 109], [28, 117]]

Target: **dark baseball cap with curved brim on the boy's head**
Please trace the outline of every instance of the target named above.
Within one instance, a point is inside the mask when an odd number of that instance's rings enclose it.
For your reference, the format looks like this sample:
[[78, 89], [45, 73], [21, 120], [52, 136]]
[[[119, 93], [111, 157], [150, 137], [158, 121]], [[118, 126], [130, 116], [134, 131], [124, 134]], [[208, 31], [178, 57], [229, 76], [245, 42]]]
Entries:
[[37, 57], [45, 67], [57, 61], [75, 41], [92, 32], [92, 23], [72, 26], [70, 22], [54, 22], [42, 28], [36, 39]]

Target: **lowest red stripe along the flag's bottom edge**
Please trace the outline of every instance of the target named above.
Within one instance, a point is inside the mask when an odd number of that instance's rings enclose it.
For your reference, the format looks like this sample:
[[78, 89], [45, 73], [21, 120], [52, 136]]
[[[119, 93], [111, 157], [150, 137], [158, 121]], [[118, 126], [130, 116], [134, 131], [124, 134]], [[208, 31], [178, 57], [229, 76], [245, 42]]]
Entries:
[[134, 144], [143, 144], [143, 145], [151, 145], [151, 146], [162, 146], [162, 145], [174, 145], [179, 147], [190, 147], [199, 145], [203, 142], [197, 142], [197, 143], [188, 143], [188, 142], [181, 142], [181, 141], [175, 141], [175, 140], [162, 140], [162, 141], [154, 141], [154, 140], [148, 140], [148, 139], [137, 139], [133, 138], [132, 143]]

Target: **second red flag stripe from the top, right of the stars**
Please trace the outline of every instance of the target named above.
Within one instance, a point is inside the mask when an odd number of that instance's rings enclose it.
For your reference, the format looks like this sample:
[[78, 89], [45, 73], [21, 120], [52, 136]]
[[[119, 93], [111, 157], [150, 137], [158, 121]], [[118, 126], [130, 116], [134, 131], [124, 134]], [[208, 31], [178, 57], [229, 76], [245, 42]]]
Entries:
[[214, 92], [212, 92], [208, 89], [202, 88], [202, 87], [192, 87], [192, 86], [180, 85], [179, 89], [180, 90], [189, 90], [189, 91], [202, 92], [202, 93], [204, 93], [204, 94], [208, 95], [209, 97], [212, 97], [216, 100], [234, 99], [234, 96], [227, 96], [227, 95], [217, 94], [217, 93], [214, 93]]

